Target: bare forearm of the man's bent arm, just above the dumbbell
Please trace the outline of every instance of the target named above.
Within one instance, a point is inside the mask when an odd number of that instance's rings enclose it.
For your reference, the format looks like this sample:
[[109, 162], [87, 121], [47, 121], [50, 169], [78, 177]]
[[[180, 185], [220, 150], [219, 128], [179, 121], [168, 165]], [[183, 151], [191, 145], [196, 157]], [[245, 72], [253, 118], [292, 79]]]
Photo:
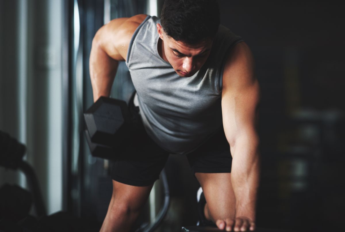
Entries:
[[90, 79], [94, 101], [100, 96], [110, 96], [118, 62], [106, 54], [96, 38], [93, 39], [90, 53]]

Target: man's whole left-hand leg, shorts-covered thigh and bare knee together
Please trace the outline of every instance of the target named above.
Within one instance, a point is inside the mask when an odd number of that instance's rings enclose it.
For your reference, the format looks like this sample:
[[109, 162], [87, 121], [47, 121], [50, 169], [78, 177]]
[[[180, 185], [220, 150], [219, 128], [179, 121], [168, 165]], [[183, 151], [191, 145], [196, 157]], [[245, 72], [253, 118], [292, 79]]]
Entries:
[[169, 153], [147, 135], [135, 106], [133, 94], [128, 105], [131, 114], [132, 145], [117, 154], [111, 168], [113, 192], [101, 232], [129, 231], [159, 178]]

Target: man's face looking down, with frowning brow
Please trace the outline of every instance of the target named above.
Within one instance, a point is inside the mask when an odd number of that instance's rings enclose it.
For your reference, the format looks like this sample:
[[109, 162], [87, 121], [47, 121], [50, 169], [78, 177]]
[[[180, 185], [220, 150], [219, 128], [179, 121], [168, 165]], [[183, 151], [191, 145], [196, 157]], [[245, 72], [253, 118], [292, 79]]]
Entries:
[[162, 58], [170, 63], [179, 76], [190, 77], [200, 70], [210, 54], [211, 39], [188, 45], [167, 36], [159, 24], [157, 29], [162, 39]]

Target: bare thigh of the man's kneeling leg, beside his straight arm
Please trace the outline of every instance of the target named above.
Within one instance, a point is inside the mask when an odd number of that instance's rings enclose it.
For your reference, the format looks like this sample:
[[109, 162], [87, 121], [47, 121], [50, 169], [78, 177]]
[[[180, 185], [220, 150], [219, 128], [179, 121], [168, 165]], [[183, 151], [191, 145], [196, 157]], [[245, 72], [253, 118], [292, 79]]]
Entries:
[[235, 194], [231, 173], [195, 173], [206, 199], [206, 219], [235, 218]]

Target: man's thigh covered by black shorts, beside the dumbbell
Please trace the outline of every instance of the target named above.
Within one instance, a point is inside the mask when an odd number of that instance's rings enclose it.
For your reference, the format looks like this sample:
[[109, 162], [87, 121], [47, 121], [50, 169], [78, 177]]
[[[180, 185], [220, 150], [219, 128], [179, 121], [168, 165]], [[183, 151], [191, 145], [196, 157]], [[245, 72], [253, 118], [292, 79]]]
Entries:
[[112, 161], [111, 177], [114, 181], [131, 186], [150, 186], [158, 178], [169, 153], [160, 148], [146, 133], [132, 95], [129, 102], [131, 115], [131, 141], [126, 149]]

